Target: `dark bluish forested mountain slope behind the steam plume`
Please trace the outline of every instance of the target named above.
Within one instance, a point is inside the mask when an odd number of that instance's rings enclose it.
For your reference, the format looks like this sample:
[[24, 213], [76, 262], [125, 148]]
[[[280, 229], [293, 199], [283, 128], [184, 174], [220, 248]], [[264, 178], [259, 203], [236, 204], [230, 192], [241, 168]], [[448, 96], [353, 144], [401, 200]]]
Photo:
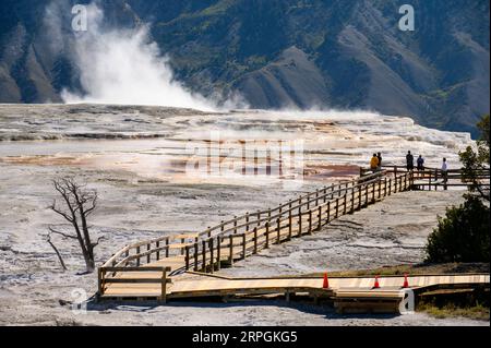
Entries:
[[[62, 87], [80, 88], [67, 55], [46, 49], [46, 4], [5, 1], [0, 101], [58, 101]], [[490, 109], [488, 0], [414, 0], [415, 32], [398, 29], [397, 0], [101, 3], [115, 25], [151, 23], [177, 79], [204, 95], [239, 92], [256, 108], [369, 108], [471, 132]]]

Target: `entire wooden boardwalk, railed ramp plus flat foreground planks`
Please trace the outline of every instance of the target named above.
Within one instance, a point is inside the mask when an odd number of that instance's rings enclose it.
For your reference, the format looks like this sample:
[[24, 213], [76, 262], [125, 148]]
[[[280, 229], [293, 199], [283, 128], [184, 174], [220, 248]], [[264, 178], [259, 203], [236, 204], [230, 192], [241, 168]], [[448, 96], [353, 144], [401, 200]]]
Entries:
[[[276, 208], [246, 214], [223, 221], [202, 232], [167, 236], [127, 245], [98, 269], [98, 296], [101, 299], [194, 298], [253, 293], [301, 293], [313, 298], [372, 300], [400, 299], [402, 277], [380, 279], [380, 289], [371, 289], [373, 278], [333, 278], [323, 288], [319, 278], [232, 279], [214, 276], [221, 266], [322, 229], [345, 214], [352, 214], [386, 196], [407, 190], [447, 189], [463, 185], [458, 172], [448, 181], [439, 181], [438, 171], [407, 172], [398, 168], [364, 175], [351, 181], [324, 187], [291, 200]], [[489, 173], [488, 173], [489, 180]], [[458, 181], [457, 181], [458, 180]], [[466, 185], [466, 184], [464, 184]], [[196, 276], [196, 272], [200, 275]], [[190, 279], [190, 273], [194, 278]], [[208, 274], [203, 275], [203, 274]], [[414, 289], [439, 286], [488, 285], [489, 275], [433, 275], [409, 278]]]

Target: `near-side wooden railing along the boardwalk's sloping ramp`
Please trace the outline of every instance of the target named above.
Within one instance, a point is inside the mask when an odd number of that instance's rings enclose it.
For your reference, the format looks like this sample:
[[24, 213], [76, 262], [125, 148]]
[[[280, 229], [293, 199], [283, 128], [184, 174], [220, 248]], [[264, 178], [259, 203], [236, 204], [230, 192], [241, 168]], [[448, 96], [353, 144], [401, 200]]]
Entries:
[[[233, 228], [185, 245], [184, 269], [211, 272], [221, 263], [256, 254], [271, 244], [279, 244], [291, 238], [311, 235], [333, 219], [375, 203], [384, 196], [408, 190], [409, 173], [387, 178], [385, 172], [363, 180], [354, 180], [321, 192], [313, 197], [292, 201], [272, 211], [264, 218], [246, 216], [243, 224], [233, 219]], [[240, 219], [239, 219], [240, 220]]]

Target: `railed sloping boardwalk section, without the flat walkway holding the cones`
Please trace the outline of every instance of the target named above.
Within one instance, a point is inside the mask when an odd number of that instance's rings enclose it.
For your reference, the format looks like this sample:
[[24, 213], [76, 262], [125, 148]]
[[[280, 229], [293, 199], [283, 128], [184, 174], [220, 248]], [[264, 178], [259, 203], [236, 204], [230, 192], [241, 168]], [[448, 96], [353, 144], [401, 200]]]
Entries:
[[[202, 232], [159, 237], [127, 245], [98, 269], [98, 293], [111, 291], [166, 299], [170, 277], [185, 271], [213, 273], [221, 265], [256, 254], [296, 237], [311, 235], [345, 214], [369, 206], [394, 193], [438, 189], [438, 169], [405, 171], [402, 167], [382, 168], [350, 181], [342, 181], [300, 195], [275, 208], [246, 213], [208, 227]], [[488, 180], [489, 171], [479, 173]], [[448, 171], [445, 188], [457, 185], [459, 171]], [[462, 183], [460, 185], [467, 185]], [[156, 287], [155, 285], [161, 285]], [[127, 293], [128, 293], [127, 291]]]

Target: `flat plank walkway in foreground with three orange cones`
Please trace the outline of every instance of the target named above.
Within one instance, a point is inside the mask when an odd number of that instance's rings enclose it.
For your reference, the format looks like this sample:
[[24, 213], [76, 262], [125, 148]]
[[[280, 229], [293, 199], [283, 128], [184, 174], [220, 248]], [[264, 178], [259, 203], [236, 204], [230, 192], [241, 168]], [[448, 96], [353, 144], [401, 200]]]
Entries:
[[[141, 274], [143, 276], [143, 273]], [[159, 279], [157, 273], [153, 274]], [[166, 287], [166, 299], [224, 297], [230, 295], [265, 295], [265, 293], [298, 293], [308, 292], [313, 297], [332, 299], [346, 298], [399, 298], [404, 276], [379, 277], [380, 288], [374, 289], [374, 277], [334, 277], [328, 279], [328, 288], [323, 288], [323, 278], [316, 277], [276, 277], [276, 278], [227, 278], [196, 275], [194, 277], [177, 276]], [[468, 287], [487, 285], [489, 274], [457, 275], [418, 275], [408, 276], [408, 286], [414, 290], [432, 289], [435, 287]], [[159, 284], [111, 284], [101, 298], [160, 298]]]

